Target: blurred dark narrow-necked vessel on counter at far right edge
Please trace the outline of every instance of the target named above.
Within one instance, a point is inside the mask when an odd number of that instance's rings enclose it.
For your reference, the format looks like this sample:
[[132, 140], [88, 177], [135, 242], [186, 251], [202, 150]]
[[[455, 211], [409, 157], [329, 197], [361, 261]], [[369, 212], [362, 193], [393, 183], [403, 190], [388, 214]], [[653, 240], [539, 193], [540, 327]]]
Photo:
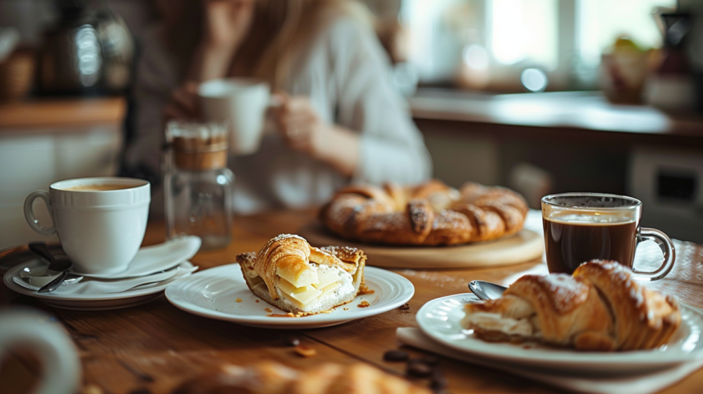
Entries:
[[645, 102], [665, 110], [690, 110], [694, 93], [685, 45], [692, 15], [663, 13], [660, 16], [664, 22], [662, 62], [647, 80]]

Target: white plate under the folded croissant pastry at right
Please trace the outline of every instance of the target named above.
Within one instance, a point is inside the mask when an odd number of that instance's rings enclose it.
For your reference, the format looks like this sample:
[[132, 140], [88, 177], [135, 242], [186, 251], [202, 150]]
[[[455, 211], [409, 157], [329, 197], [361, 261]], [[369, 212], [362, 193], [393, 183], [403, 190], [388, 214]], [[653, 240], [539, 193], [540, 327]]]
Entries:
[[666, 346], [625, 352], [578, 352], [536, 343], [486, 342], [461, 327], [464, 305], [476, 302], [473, 294], [436, 298], [420, 308], [416, 319], [427, 336], [467, 354], [513, 365], [546, 368], [578, 374], [623, 374], [662, 369], [703, 358], [703, 313], [681, 306], [681, 327]]

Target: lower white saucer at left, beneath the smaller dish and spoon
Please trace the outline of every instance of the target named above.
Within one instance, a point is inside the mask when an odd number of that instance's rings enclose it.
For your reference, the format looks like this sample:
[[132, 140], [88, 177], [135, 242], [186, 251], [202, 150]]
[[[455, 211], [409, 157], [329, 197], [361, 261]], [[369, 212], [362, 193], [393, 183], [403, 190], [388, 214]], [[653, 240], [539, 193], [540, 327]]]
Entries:
[[161, 292], [166, 289], [169, 284], [172, 284], [182, 277], [191, 275], [191, 272], [188, 272], [187, 270], [189, 268], [193, 268], [193, 264], [189, 261], [183, 261], [181, 263], [181, 267], [186, 268], [186, 272], [183, 272], [183, 274], [174, 275], [168, 280], [162, 282], [144, 284], [142, 286], [135, 287], [134, 289], [122, 291], [121, 293], [56, 294], [37, 293], [37, 291], [27, 289], [13, 282], [12, 278], [14, 276], [19, 276], [22, 268], [32, 262], [33, 261], [29, 261], [27, 263], [15, 265], [15, 267], [8, 270], [8, 272], [5, 272], [3, 277], [5, 286], [19, 294], [39, 298], [42, 303], [45, 303], [48, 306], [72, 310], [109, 310], [127, 308], [129, 306], [136, 306], [146, 303], [154, 298], [160, 297]]

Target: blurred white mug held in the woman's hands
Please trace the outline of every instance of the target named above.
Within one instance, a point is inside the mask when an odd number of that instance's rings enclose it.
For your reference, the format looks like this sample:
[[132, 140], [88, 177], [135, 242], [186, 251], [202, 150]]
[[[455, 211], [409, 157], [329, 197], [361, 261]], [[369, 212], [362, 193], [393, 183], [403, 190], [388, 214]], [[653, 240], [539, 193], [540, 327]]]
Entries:
[[230, 152], [250, 155], [259, 150], [264, 117], [271, 102], [266, 81], [252, 78], [212, 79], [198, 87], [205, 122], [230, 128]]

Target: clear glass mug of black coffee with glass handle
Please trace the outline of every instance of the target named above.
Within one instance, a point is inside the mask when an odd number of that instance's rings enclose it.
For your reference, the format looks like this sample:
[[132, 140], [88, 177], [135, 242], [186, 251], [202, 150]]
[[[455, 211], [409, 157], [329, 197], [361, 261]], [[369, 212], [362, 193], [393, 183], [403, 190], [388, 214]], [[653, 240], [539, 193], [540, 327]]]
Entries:
[[[549, 272], [571, 274], [594, 258], [627, 265], [641, 280], [659, 280], [673, 268], [671, 239], [653, 228], [640, 228], [642, 202], [632, 197], [599, 193], [562, 193], [542, 199], [544, 242]], [[652, 272], [633, 268], [635, 249], [657, 242], [664, 262]]]

